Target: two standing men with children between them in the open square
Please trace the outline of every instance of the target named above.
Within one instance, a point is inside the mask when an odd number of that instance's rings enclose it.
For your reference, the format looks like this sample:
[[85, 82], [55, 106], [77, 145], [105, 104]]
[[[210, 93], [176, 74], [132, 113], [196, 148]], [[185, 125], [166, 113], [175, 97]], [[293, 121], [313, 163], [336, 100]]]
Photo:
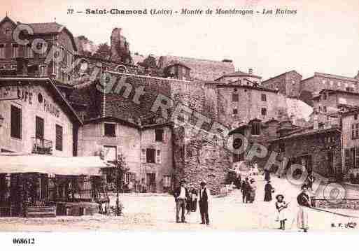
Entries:
[[[198, 193], [195, 187], [185, 187], [185, 180], [181, 180], [180, 187], [174, 191], [174, 198], [176, 201], [176, 222], [186, 223], [185, 210], [187, 214], [197, 210], [197, 201], [199, 204], [199, 212], [201, 214], [201, 224], [209, 224], [209, 199], [211, 192], [206, 187], [206, 181], [200, 183], [201, 189]], [[180, 220], [181, 211], [181, 220]]]

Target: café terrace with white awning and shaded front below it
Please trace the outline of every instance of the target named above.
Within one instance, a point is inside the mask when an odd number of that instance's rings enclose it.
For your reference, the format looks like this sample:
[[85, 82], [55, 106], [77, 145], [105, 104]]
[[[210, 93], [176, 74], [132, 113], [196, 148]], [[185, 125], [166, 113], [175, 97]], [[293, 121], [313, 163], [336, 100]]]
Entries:
[[99, 213], [99, 157], [0, 155], [0, 216], [55, 217]]

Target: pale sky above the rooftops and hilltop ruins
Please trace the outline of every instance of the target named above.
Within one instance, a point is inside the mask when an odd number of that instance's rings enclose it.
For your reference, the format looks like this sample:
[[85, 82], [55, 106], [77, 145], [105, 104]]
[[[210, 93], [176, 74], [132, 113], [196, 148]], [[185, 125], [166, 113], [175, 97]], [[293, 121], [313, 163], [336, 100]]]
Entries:
[[[296, 15], [85, 15], [87, 8], [238, 10], [281, 8]], [[111, 31], [122, 28], [132, 52], [199, 59], [232, 59], [236, 69], [252, 68], [263, 79], [296, 70], [353, 77], [359, 71], [358, 0], [11, 0], [1, 1], [0, 18], [15, 22], [56, 22], [73, 36], [110, 44]]]

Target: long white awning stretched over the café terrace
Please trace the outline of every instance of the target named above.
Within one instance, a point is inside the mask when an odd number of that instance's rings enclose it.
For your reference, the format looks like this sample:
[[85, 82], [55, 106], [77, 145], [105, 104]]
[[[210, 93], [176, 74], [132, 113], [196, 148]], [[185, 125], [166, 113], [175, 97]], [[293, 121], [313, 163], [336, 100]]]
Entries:
[[[0, 173], [51, 173], [57, 175], [101, 175], [108, 167], [100, 157], [53, 157], [45, 155], [0, 155]], [[111, 165], [110, 165], [111, 166]]]

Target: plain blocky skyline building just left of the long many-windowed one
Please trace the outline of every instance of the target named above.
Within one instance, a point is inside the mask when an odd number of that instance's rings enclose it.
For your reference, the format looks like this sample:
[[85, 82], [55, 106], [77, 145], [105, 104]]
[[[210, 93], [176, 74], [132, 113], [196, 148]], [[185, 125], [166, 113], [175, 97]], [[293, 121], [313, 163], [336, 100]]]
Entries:
[[279, 93], [298, 98], [300, 96], [300, 81], [302, 75], [297, 71], [287, 71], [273, 78], [262, 81], [262, 85], [271, 89], [278, 89]]

